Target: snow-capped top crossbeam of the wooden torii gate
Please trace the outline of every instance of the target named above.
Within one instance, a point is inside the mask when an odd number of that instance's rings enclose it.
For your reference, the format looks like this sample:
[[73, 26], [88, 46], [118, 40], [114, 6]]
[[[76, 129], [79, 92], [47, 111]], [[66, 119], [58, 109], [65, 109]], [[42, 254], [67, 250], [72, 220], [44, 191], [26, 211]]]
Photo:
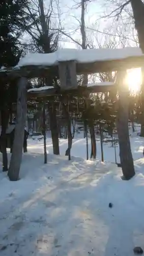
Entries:
[[[140, 48], [122, 49], [61, 49], [54, 53], [32, 53], [21, 58], [13, 69], [0, 70], [0, 77], [60, 77], [66, 89], [66, 77], [71, 87], [77, 87], [76, 74], [92, 74], [142, 67], [144, 54]], [[69, 70], [67, 68], [69, 67]], [[67, 72], [68, 71], [68, 72]], [[59, 76], [60, 73], [60, 76]], [[69, 77], [68, 74], [69, 73]]]

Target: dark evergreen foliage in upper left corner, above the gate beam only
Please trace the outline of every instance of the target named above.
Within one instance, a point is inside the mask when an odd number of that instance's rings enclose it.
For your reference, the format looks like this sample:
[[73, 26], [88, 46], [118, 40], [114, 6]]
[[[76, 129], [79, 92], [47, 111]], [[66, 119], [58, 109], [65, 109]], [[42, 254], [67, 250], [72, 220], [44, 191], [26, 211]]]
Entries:
[[0, 68], [15, 66], [21, 55], [19, 37], [28, 16], [24, 11], [27, 0], [2, 0], [0, 3]]

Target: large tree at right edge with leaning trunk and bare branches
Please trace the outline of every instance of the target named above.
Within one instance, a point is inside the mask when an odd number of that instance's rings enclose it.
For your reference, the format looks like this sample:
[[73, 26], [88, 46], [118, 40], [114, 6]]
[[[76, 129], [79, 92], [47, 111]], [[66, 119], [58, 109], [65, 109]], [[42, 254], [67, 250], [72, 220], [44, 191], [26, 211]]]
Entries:
[[[137, 41], [139, 47], [144, 53], [144, 3], [142, 0], [108, 0], [106, 1], [110, 6], [113, 6], [112, 12], [107, 17], [113, 17], [114, 20], [121, 19], [121, 24], [131, 32], [135, 28], [137, 32]], [[129, 33], [129, 32], [128, 32]], [[142, 70], [142, 84], [141, 84], [141, 136], [144, 137], [144, 77]]]

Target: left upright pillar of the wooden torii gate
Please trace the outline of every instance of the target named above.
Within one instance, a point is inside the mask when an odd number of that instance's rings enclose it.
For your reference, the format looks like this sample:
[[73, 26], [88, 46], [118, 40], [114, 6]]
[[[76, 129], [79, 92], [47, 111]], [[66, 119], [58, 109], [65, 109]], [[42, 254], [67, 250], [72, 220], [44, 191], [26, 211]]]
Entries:
[[11, 181], [19, 179], [19, 170], [22, 159], [22, 148], [24, 139], [24, 127], [26, 122], [27, 104], [26, 104], [26, 78], [21, 77], [18, 81], [17, 95], [17, 123], [15, 126], [14, 143], [8, 176]]

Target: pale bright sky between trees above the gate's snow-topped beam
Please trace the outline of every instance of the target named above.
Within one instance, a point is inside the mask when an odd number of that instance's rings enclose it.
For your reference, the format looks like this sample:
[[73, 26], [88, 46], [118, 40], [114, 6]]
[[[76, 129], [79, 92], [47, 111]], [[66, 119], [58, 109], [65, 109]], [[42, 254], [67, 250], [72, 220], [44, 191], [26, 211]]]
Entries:
[[[53, 0], [59, 1], [60, 12], [61, 12], [61, 24], [64, 31], [69, 34], [73, 39], [81, 42], [81, 34], [79, 30], [79, 22], [81, 16], [80, 7], [77, 8], [77, 4], [80, 0]], [[48, 3], [49, 0], [45, 0], [45, 3]], [[87, 10], [85, 13], [85, 26], [91, 28], [87, 29], [87, 39], [88, 41], [93, 41], [93, 45], [96, 48], [99, 47], [109, 47], [109, 41], [114, 42], [110, 47], [126, 47], [126, 46], [136, 46], [133, 41], [133, 31], [130, 31], [130, 27], [125, 27], [120, 21], [114, 20], [113, 18], [100, 18], [112, 11], [112, 8], [116, 6], [106, 6], [106, 0], [90, 0], [87, 6]], [[100, 32], [96, 32], [94, 30], [99, 30]], [[125, 35], [124, 35], [125, 31]], [[103, 32], [110, 34], [106, 35]], [[115, 35], [115, 37], [111, 35]], [[119, 34], [121, 34], [122, 38], [120, 40]], [[131, 40], [126, 40], [123, 36], [128, 36], [132, 38]], [[66, 36], [62, 36], [60, 41], [60, 47], [62, 48], [79, 48], [70, 38]]]

